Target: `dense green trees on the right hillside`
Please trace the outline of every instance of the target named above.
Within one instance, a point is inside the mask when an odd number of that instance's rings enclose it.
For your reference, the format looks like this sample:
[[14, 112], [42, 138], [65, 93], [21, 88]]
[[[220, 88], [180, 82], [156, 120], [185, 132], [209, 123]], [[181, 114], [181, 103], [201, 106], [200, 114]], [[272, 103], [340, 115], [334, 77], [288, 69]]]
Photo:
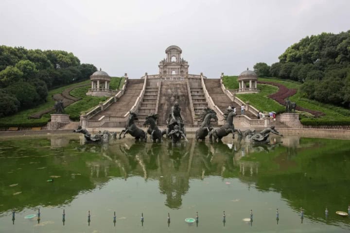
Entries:
[[262, 76], [303, 83], [301, 92], [309, 99], [342, 106], [350, 104], [350, 31], [307, 36], [290, 46], [269, 67], [254, 66]]

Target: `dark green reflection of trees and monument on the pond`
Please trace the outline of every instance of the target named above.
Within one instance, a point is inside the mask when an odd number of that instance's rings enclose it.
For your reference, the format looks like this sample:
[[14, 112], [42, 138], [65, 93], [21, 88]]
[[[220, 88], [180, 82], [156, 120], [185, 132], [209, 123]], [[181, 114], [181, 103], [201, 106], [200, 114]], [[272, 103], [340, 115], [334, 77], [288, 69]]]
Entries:
[[[292, 209], [299, 212], [302, 206], [305, 216], [316, 221], [325, 219], [326, 206], [347, 206], [350, 196], [350, 145], [342, 140], [272, 137], [266, 145], [232, 139], [173, 145], [125, 139], [95, 145], [70, 138], [31, 139], [1, 141], [0, 162], [0, 213], [64, 205], [110, 179], [134, 176], [157, 180], [171, 209], [182, 208], [191, 180], [210, 176], [278, 192]], [[46, 182], [50, 177], [58, 177], [54, 185]], [[334, 216], [327, 221], [345, 222]]]

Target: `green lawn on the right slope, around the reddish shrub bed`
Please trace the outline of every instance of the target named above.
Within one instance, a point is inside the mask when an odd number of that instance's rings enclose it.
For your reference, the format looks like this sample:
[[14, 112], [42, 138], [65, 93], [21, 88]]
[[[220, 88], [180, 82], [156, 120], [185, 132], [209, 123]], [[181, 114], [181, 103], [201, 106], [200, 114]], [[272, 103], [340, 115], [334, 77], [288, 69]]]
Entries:
[[[227, 76], [229, 80], [225, 79], [224, 77], [224, 84], [227, 89], [237, 89], [236, 87], [237, 83], [237, 76]], [[236, 79], [236, 80], [234, 80]], [[295, 81], [290, 81], [290, 80], [280, 80], [276, 78], [259, 78], [259, 81], [266, 81], [266, 82], [275, 82], [275, 83], [281, 83], [285, 85], [288, 88], [295, 88], [299, 89], [301, 86], [301, 83], [295, 82]], [[238, 84], [237, 84], [238, 85]], [[274, 86], [272, 86], [274, 87]], [[258, 88], [261, 89], [261, 92], [258, 94], [238, 94], [237, 97], [240, 98], [243, 101], [249, 101], [252, 106], [257, 108], [260, 111], [265, 111], [265, 112], [270, 112], [270, 111], [275, 111], [275, 112], [283, 112], [285, 109], [284, 106], [280, 105], [278, 102], [275, 100], [272, 100], [268, 98], [267, 96], [275, 93], [278, 91], [278, 88], [276, 89], [271, 88], [271, 85], [262, 85], [258, 84]], [[325, 116], [321, 116], [321, 119], [324, 120], [342, 120], [346, 117], [350, 116], [350, 110], [334, 106], [332, 104], [324, 104], [315, 100], [309, 100], [307, 98], [304, 98], [301, 96], [300, 91], [297, 91], [297, 94], [290, 97], [291, 101], [294, 101], [297, 103], [298, 106], [311, 109], [311, 110], [316, 110], [325, 113]], [[302, 116], [310, 116], [310, 114], [305, 114], [301, 113]]]

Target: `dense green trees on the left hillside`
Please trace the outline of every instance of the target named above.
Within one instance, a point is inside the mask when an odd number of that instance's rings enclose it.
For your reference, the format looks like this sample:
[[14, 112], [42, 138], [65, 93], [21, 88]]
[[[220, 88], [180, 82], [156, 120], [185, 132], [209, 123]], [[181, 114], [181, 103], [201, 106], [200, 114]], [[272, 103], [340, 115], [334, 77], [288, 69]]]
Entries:
[[96, 70], [71, 52], [0, 46], [0, 117], [38, 105], [48, 90], [86, 80]]

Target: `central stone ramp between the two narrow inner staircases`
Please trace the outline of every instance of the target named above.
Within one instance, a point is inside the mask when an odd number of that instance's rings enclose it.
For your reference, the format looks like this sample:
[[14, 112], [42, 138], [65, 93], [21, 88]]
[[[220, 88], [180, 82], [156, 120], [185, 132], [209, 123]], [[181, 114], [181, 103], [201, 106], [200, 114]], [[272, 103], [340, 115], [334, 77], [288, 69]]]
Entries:
[[181, 116], [186, 125], [193, 125], [190, 99], [186, 82], [162, 82], [159, 96], [158, 125], [166, 125], [175, 101], [181, 108]]

